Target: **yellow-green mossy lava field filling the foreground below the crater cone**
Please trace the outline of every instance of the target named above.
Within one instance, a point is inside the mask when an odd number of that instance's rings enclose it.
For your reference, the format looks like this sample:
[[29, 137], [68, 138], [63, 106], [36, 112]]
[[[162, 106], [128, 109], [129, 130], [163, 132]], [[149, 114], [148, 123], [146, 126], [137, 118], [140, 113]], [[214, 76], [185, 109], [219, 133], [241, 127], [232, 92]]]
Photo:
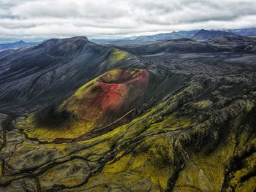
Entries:
[[34, 191], [253, 191], [255, 92], [224, 102], [207, 82], [194, 78], [93, 138], [45, 143], [15, 129], [1, 190], [29, 180]]

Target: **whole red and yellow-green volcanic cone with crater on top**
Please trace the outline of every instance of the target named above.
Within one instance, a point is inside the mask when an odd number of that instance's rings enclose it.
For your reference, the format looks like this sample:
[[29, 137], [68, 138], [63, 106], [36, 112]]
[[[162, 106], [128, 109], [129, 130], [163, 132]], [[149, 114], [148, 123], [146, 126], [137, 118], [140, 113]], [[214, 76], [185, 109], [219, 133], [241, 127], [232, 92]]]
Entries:
[[132, 103], [146, 91], [147, 81], [146, 70], [112, 69], [78, 88], [59, 106], [35, 112], [17, 126], [27, 137], [41, 142], [81, 137], [132, 110]]

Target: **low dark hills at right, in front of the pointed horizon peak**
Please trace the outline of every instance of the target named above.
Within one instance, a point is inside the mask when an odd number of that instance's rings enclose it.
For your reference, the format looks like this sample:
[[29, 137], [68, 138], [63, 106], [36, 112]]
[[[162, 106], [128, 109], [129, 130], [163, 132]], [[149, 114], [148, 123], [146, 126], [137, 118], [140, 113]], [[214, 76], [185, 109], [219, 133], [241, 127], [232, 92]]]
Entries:
[[123, 48], [134, 55], [151, 55], [163, 53], [256, 53], [256, 38], [219, 37], [200, 42], [195, 39], [170, 39], [140, 47]]

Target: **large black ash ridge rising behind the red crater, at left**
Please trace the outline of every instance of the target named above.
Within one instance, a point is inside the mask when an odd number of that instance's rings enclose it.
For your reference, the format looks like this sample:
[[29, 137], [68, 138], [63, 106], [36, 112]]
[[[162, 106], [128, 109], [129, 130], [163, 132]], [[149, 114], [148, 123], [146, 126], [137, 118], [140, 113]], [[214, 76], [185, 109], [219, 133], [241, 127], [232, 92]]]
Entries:
[[132, 55], [86, 37], [50, 39], [0, 58], [0, 102], [16, 105], [54, 99], [114, 66], [135, 66], [136, 62]]

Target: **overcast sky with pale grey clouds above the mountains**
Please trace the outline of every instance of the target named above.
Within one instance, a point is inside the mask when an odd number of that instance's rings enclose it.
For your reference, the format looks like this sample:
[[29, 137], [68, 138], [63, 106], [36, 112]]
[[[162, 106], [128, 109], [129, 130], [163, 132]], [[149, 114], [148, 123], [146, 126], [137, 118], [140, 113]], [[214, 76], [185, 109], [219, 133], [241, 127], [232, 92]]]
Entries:
[[256, 27], [256, 0], [0, 0], [0, 42]]

